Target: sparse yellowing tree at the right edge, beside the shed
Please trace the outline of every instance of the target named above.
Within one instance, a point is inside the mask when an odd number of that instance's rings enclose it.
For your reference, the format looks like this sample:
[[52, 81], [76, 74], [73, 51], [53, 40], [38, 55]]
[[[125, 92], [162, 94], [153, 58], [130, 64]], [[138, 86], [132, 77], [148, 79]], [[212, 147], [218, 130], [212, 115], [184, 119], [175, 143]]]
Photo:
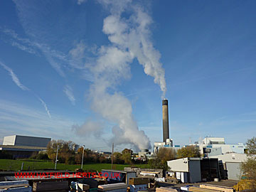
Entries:
[[256, 191], [256, 137], [247, 140], [247, 161], [242, 162], [240, 169], [250, 179], [250, 189]]

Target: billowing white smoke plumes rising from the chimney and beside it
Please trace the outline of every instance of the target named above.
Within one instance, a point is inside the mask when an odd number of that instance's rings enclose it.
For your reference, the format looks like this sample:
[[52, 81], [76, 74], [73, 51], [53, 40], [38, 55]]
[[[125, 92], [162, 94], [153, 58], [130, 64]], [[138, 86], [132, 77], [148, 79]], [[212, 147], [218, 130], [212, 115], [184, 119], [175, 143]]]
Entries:
[[[134, 58], [143, 65], [146, 75], [154, 78], [163, 92], [166, 92], [164, 69], [161, 67], [159, 51], [150, 41], [149, 25], [151, 17], [131, 1], [100, 1], [110, 9], [111, 14], [104, 19], [102, 31], [108, 36], [110, 46], [99, 49], [96, 64], [91, 68], [94, 75], [90, 87], [92, 109], [102, 117], [117, 123], [113, 127], [116, 144], [132, 144], [136, 149], [150, 149], [149, 137], [137, 126], [132, 115], [132, 105], [120, 92], [110, 94], [122, 78], [130, 78], [130, 67]], [[129, 18], [122, 17], [129, 10]], [[132, 11], [132, 12], [131, 12]]]

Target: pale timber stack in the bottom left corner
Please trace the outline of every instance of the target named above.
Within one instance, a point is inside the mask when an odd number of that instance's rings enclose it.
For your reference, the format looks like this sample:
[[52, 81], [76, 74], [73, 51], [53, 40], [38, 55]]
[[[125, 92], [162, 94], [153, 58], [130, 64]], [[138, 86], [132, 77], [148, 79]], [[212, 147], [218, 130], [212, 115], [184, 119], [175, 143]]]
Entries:
[[32, 188], [28, 185], [28, 181], [1, 181], [1, 192], [31, 192]]

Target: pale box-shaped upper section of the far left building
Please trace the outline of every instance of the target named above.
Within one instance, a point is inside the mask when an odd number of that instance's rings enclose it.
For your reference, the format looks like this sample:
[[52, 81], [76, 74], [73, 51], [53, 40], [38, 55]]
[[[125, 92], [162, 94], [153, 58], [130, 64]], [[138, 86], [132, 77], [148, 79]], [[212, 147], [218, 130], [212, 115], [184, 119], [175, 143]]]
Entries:
[[29, 137], [21, 135], [12, 135], [4, 137], [4, 145], [14, 146], [41, 146], [46, 147], [50, 142], [50, 138], [45, 137]]

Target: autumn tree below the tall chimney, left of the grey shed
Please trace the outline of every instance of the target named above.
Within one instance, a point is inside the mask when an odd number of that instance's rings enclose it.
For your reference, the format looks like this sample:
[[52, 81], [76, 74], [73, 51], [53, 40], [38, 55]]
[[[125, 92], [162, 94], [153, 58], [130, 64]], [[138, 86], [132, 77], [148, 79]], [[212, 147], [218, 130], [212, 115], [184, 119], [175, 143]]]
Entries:
[[176, 152], [171, 148], [160, 148], [159, 152], [156, 154], [156, 159], [149, 159], [149, 166], [152, 169], [164, 169], [167, 171], [169, 169], [167, 161], [175, 159]]

